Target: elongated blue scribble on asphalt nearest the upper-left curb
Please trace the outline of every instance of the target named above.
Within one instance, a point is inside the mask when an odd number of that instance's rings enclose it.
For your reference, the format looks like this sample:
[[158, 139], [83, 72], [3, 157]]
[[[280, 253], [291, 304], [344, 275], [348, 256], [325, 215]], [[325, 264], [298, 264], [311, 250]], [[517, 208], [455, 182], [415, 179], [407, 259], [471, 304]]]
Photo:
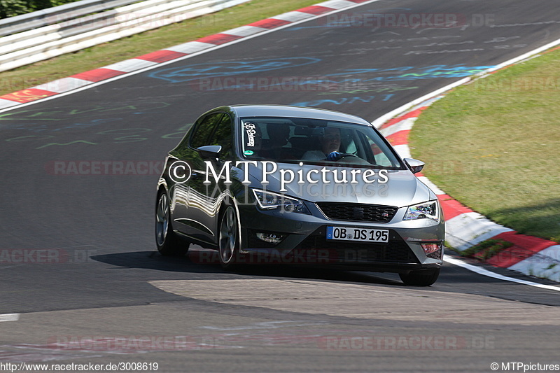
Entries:
[[297, 66], [315, 64], [319, 58], [312, 57], [286, 57], [275, 59], [262, 59], [251, 62], [207, 62], [187, 66], [173, 67], [148, 73], [151, 78], [168, 80], [172, 83], [186, 82], [200, 78], [216, 78], [218, 76], [231, 76], [243, 73], [257, 73], [278, 69], [291, 69]]

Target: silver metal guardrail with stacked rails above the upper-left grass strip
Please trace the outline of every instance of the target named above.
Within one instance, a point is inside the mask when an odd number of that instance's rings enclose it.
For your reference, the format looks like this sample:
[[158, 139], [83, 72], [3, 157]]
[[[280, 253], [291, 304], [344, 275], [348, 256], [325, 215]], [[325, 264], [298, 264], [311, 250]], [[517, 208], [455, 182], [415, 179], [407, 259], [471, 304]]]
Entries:
[[[83, 0], [10, 17], [0, 21], [0, 36], [7, 35], [0, 37], [0, 71], [213, 13], [246, 1]], [[14, 30], [19, 31], [10, 34]]]

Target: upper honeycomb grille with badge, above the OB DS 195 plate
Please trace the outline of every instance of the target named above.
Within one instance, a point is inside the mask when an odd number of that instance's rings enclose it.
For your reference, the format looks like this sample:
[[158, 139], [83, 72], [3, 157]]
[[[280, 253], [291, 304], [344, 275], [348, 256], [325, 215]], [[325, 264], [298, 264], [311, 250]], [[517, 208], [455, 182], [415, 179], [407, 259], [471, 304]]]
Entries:
[[345, 202], [317, 202], [317, 206], [330, 220], [388, 223], [398, 207], [377, 204], [349, 204]]

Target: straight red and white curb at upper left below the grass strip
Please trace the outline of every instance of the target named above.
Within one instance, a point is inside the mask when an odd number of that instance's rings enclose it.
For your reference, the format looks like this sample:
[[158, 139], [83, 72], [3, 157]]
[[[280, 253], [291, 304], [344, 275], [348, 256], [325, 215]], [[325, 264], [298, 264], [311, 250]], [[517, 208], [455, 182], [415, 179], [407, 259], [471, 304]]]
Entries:
[[12, 92], [0, 96], [0, 110], [6, 108], [13, 108], [21, 104], [27, 104], [39, 99], [45, 99], [64, 92], [71, 92], [86, 85], [98, 83], [102, 80], [109, 80], [116, 76], [121, 76], [133, 71], [139, 71], [153, 66], [158, 66], [165, 62], [170, 62], [174, 59], [193, 55], [202, 50], [215, 48], [218, 45], [224, 45], [234, 41], [239, 41], [242, 38], [254, 36], [278, 27], [283, 27], [295, 22], [310, 20], [314, 17], [324, 15], [325, 13], [343, 10], [345, 8], [353, 8], [360, 3], [369, 3], [377, 0], [330, 0], [322, 3], [317, 3], [313, 6], [307, 6], [298, 10], [276, 15], [274, 17], [253, 22], [245, 26], [236, 27], [228, 31], [223, 31], [219, 34], [205, 36], [204, 38], [190, 41], [188, 43], [175, 45], [171, 48], [158, 50], [156, 52], [148, 53], [136, 58], [127, 59], [116, 64], [100, 67], [83, 73], [53, 80], [52, 82], [37, 85], [26, 90]]

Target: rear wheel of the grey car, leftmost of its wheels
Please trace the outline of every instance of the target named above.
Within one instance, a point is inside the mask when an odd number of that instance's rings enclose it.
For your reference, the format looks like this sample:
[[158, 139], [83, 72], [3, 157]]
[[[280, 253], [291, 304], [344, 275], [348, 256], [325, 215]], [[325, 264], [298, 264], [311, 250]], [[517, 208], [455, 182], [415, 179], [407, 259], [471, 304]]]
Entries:
[[182, 256], [188, 251], [188, 242], [177, 237], [171, 225], [169, 197], [161, 190], [155, 203], [155, 245], [161, 255]]

